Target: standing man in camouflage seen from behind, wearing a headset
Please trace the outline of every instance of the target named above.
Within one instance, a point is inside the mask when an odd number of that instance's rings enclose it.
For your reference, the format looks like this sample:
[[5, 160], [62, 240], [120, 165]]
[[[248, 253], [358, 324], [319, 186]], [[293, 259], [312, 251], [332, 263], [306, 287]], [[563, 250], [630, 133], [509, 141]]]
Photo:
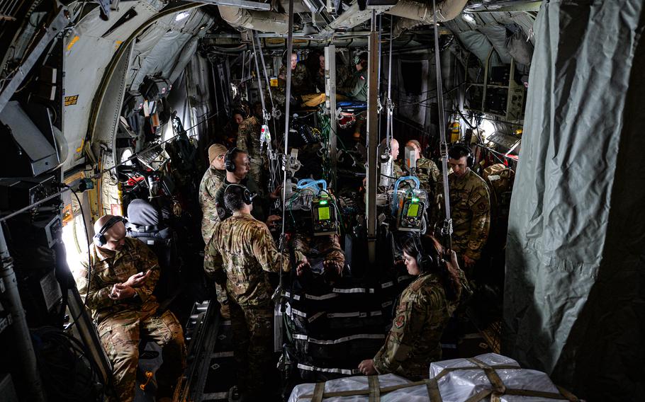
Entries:
[[[252, 205], [245, 201], [244, 188], [232, 185], [224, 202], [232, 217], [215, 226], [213, 238], [204, 253], [206, 275], [225, 285], [230, 300], [230, 318], [238, 362], [238, 387], [249, 400], [264, 400], [264, 376], [271, 357], [273, 307], [267, 272], [288, 272], [288, 253], [279, 253], [269, 228], [251, 216]], [[296, 251], [305, 268], [307, 259]]]

